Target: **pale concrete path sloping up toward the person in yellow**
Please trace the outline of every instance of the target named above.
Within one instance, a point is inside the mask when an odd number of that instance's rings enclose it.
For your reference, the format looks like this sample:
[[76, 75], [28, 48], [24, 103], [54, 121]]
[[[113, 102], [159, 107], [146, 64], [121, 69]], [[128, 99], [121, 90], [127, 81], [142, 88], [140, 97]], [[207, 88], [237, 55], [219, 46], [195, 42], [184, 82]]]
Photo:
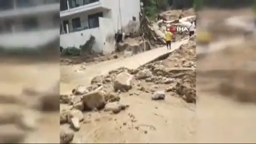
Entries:
[[79, 72], [75, 71], [82, 66], [81, 64], [73, 66], [61, 66], [60, 93], [70, 93], [77, 85], [89, 85], [93, 77], [107, 74], [109, 71], [115, 70], [122, 66], [132, 69], [138, 68], [139, 66], [144, 65], [163, 54], [171, 53], [175, 49], [179, 48], [179, 46], [187, 42], [188, 39], [173, 42], [171, 50], [167, 50], [167, 48], [163, 46], [144, 53], [133, 55], [132, 57], [114, 59], [95, 65], [89, 65], [86, 66], [86, 70]]

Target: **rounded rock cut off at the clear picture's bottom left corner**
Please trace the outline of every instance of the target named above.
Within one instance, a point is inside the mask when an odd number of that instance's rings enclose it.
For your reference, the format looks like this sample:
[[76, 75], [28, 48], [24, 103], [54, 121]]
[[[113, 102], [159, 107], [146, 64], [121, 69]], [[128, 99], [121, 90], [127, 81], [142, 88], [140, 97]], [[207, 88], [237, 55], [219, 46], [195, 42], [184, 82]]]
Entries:
[[70, 129], [61, 127], [60, 129], [60, 143], [69, 144], [74, 138], [74, 132]]

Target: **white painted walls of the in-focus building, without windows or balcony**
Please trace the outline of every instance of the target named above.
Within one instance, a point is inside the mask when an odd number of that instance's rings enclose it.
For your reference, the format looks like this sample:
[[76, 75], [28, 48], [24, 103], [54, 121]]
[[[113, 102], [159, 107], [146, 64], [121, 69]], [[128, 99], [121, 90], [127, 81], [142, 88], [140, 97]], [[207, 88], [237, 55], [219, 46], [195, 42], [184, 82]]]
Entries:
[[[139, 0], [100, 0], [100, 3], [104, 7], [110, 8], [97, 8], [91, 9], [83, 13], [77, 13], [66, 17], [61, 17], [61, 20], [69, 21], [69, 30], [71, 33], [62, 34], [60, 36], [60, 45], [63, 48], [69, 46], [79, 47], [83, 45], [90, 35], [94, 35], [96, 38], [96, 44], [93, 46], [95, 52], [111, 53], [115, 50], [115, 32], [121, 29], [121, 24], [125, 33], [130, 33], [139, 30], [139, 14], [140, 14], [140, 1]], [[121, 18], [120, 10], [121, 8]], [[80, 17], [82, 27], [88, 26], [87, 17], [89, 14], [97, 12], [103, 12], [103, 18], [99, 18], [99, 28], [87, 29], [79, 32], [72, 32], [72, 19]], [[118, 18], [119, 17], [119, 18]], [[136, 21], [133, 21], [133, 17]], [[118, 22], [119, 21], [119, 22]], [[129, 31], [132, 30], [132, 31]], [[81, 35], [83, 34], [83, 35]]]

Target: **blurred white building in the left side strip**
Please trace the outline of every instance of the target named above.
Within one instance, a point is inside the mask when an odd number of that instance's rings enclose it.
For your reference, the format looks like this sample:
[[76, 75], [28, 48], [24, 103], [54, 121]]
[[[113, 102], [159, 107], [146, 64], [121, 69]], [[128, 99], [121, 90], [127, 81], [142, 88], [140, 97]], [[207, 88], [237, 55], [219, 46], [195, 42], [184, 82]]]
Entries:
[[0, 0], [0, 47], [35, 48], [59, 37], [59, 0]]

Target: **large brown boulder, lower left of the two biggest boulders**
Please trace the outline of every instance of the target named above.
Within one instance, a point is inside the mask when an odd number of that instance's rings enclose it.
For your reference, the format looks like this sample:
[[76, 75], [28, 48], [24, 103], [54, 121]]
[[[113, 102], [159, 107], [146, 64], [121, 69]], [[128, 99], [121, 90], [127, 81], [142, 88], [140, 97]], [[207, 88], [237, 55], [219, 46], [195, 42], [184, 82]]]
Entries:
[[85, 94], [82, 100], [85, 110], [102, 109], [105, 106], [104, 92], [99, 89]]

